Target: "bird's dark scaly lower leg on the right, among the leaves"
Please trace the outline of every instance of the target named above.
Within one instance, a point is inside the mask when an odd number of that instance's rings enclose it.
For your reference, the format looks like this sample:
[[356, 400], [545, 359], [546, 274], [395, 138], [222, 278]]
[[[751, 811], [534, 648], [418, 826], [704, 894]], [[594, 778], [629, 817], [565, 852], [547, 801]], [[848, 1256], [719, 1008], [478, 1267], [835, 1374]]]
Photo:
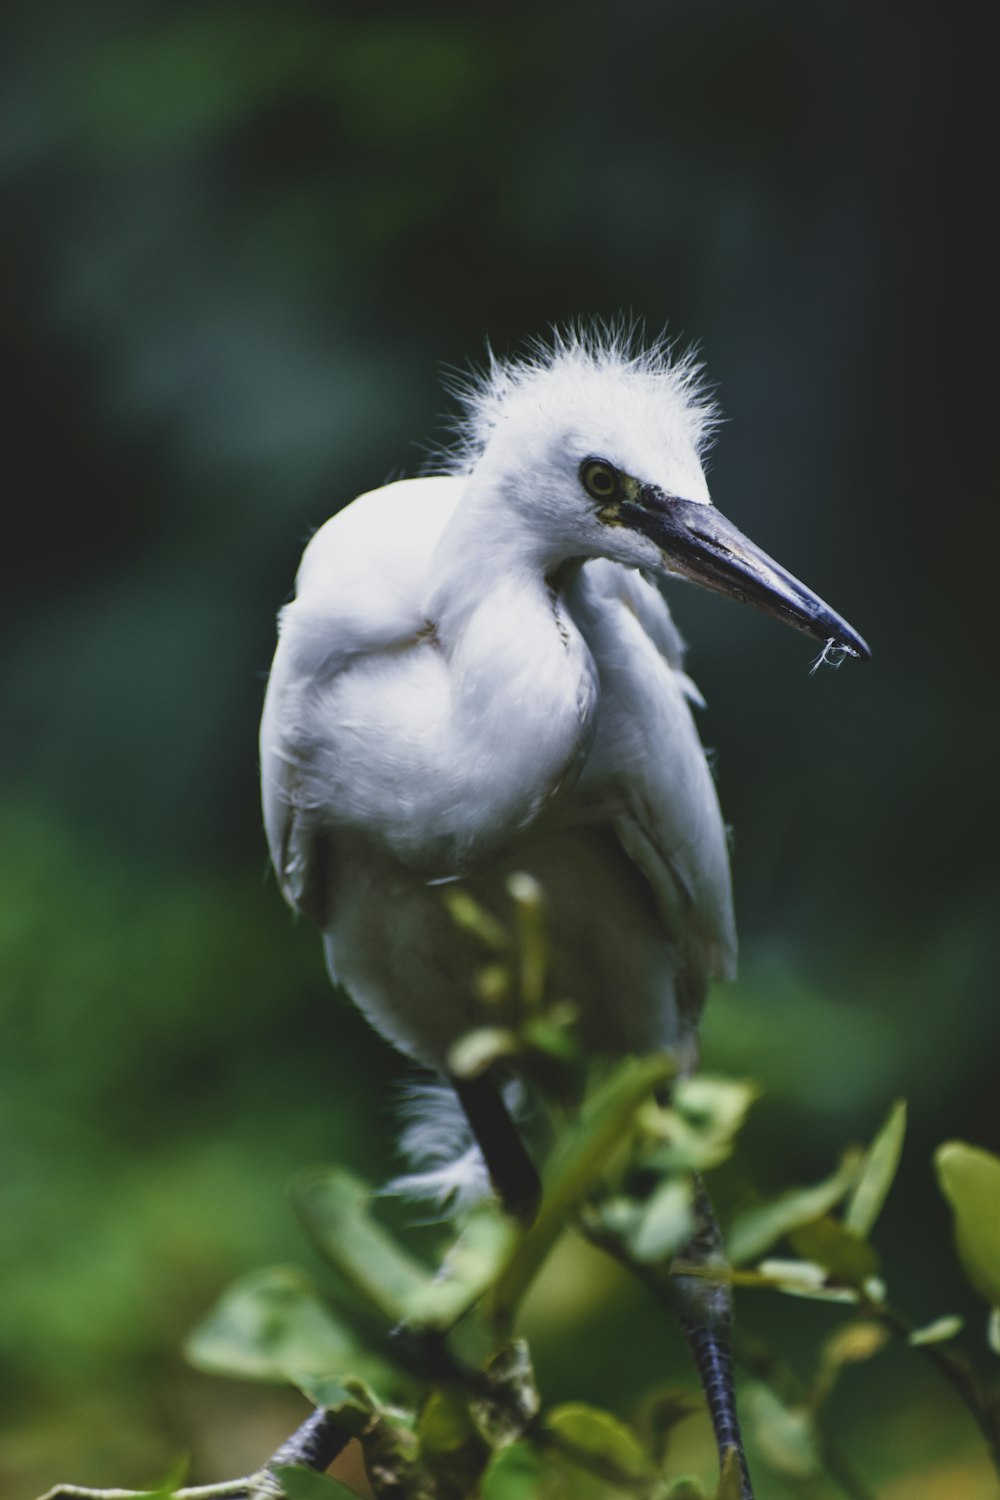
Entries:
[[723, 1236], [700, 1179], [696, 1179], [694, 1212], [699, 1227], [678, 1254], [678, 1270], [670, 1278], [672, 1300], [702, 1380], [720, 1464], [726, 1462], [732, 1449], [736, 1450], [742, 1473], [742, 1500], [753, 1500], [754, 1491], [747, 1470], [733, 1388], [732, 1287], [726, 1281], [714, 1281], [711, 1275], [684, 1275], [681, 1269], [697, 1266], [711, 1272], [712, 1266], [726, 1266]]

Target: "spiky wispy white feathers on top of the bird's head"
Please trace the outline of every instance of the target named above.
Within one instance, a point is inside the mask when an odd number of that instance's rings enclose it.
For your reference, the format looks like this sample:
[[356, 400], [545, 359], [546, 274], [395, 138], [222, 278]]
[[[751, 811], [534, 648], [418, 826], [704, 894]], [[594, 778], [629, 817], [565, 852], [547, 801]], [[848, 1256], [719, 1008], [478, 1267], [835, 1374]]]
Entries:
[[549, 411], [618, 410], [622, 422], [679, 424], [699, 456], [720, 422], [696, 352], [678, 352], [664, 334], [646, 340], [634, 320], [553, 328], [550, 339], [532, 339], [513, 358], [487, 348], [484, 370], [453, 372], [447, 386], [462, 414], [441, 459], [457, 474], [475, 466], [504, 426], [529, 424]]

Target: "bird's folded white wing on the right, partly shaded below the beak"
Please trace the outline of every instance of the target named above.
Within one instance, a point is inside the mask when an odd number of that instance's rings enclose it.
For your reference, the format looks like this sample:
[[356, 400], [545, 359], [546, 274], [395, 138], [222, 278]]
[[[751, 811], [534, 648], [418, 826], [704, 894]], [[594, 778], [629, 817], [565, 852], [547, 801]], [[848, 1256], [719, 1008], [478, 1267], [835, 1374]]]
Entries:
[[[736, 963], [726, 826], [688, 699], [682, 644], [660, 591], [597, 560], [570, 600], [600, 674], [600, 712], [576, 801], [613, 824], [678, 944], [697, 1011]], [[681, 996], [684, 1000], [684, 996]]]

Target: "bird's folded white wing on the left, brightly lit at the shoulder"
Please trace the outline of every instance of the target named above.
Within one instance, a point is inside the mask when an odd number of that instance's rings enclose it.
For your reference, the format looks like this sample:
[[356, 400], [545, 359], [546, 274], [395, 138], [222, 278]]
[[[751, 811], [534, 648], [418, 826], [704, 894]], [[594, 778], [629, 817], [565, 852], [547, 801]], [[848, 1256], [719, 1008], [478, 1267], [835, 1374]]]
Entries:
[[324, 920], [327, 837], [310, 772], [330, 752], [315, 705], [358, 657], [420, 634], [426, 564], [462, 482], [400, 480], [358, 496], [316, 531], [279, 639], [261, 717], [264, 826], [282, 892]]

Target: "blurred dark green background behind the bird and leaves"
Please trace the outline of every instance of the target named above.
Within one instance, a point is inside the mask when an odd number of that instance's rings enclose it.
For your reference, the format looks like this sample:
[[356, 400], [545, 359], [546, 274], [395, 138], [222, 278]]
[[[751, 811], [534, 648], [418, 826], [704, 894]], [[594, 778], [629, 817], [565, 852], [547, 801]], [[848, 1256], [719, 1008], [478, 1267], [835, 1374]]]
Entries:
[[[720, 1191], [825, 1173], [906, 1095], [891, 1288], [981, 1348], [930, 1155], [1000, 1146], [993, 8], [12, 0], [3, 28], [4, 1494], [181, 1452], [223, 1478], [298, 1419], [178, 1352], [232, 1276], [309, 1262], [297, 1167], [393, 1168], [405, 1070], [265, 873], [273, 618], [310, 531], [441, 440], [441, 368], [571, 315], [697, 339], [717, 502], [876, 652], [810, 675], [802, 638], [670, 592], [742, 928], [705, 1056], [765, 1090]], [[831, 1326], [742, 1322], [802, 1372]], [[535, 1324], [553, 1398], [693, 1383], [582, 1252]], [[913, 1356], [834, 1410], [880, 1496], [994, 1492]]]

